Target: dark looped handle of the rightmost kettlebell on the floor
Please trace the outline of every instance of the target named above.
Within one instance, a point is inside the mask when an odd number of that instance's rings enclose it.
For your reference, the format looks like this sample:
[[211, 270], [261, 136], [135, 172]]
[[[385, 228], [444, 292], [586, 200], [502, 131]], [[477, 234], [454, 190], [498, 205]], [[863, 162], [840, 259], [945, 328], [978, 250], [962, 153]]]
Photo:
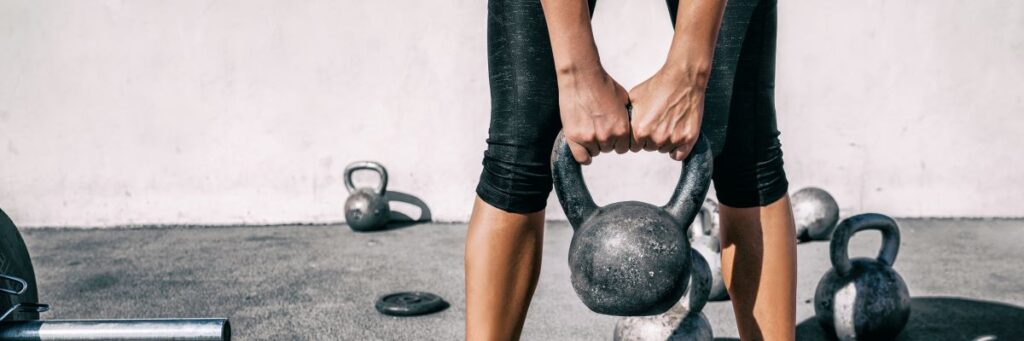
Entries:
[[878, 261], [888, 266], [896, 262], [896, 254], [899, 253], [899, 225], [896, 224], [896, 220], [879, 213], [858, 214], [843, 220], [833, 232], [829, 249], [833, 267], [839, 275], [849, 275], [853, 269], [849, 253], [850, 238], [865, 229], [882, 232], [882, 248], [879, 250]]

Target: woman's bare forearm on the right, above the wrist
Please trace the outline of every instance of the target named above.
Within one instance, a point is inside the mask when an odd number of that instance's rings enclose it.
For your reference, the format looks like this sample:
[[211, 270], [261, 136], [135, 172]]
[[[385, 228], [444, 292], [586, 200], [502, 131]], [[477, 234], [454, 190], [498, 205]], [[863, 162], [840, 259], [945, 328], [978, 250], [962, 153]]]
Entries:
[[700, 85], [707, 84], [725, 3], [726, 0], [680, 1], [676, 33], [666, 60], [669, 71]]

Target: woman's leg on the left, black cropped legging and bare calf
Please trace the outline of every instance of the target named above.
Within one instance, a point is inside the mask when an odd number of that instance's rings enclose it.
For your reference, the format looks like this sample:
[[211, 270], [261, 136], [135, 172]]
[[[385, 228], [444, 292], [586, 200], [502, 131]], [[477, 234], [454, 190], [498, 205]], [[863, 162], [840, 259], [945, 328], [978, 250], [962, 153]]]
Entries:
[[541, 271], [551, 147], [561, 129], [539, 0], [488, 1], [487, 67], [490, 128], [466, 236], [466, 338], [515, 340]]

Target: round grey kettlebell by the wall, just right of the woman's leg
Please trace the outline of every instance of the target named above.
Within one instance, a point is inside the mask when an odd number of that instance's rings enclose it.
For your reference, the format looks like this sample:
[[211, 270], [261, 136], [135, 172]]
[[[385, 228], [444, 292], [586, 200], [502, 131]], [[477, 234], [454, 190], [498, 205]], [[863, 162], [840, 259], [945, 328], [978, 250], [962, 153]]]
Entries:
[[839, 222], [839, 204], [827, 191], [806, 187], [793, 194], [793, 217], [800, 242], [827, 241]]

